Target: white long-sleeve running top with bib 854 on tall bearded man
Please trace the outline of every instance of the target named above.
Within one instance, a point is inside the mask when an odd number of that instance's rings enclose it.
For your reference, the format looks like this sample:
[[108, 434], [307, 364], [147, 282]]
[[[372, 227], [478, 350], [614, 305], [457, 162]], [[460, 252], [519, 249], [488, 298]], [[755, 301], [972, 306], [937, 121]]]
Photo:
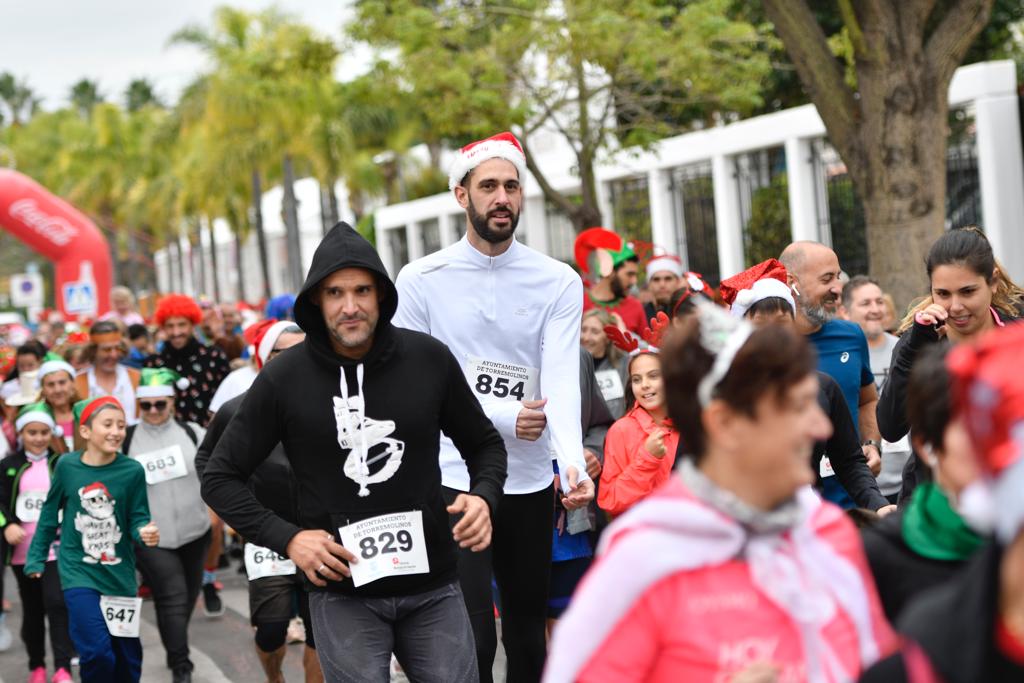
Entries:
[[[563, 490], [575, 467], [587, 479], [580, 424], [580, 321], [583, 283], [573, 270], [513, 240], [499, 256], [481, 254], [464, 237], [398, 273], [394, 325], [447, 344], [484, 413], [505, 438], [506, 494], [551, 485], [558, 461]], [[516, 437], [521, 401], [548, 399], [541, 438]], [[441, 481], [469, 489], [455, 444], [441, 435]]]

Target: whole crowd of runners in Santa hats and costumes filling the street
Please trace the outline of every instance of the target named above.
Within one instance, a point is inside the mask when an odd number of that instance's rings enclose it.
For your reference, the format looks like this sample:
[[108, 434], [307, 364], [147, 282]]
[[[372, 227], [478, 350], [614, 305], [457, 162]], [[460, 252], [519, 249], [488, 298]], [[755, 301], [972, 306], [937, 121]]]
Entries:
[[713, 283], [594, 227], [573, 268], [516, 241], [525, 175], [464, 147], [465, 237], [394, 280], [340, 223], [262, 309], [0, 329], [2, 656], [138, 681], [152, 599], [190, 681], [241, 544], [271, 683], [295, 633], [307, 683], [489, 681], [499, 633], [515, 683], [1024, 681], [1024, 290], [984, 233], [901, 315], [812, 242]]

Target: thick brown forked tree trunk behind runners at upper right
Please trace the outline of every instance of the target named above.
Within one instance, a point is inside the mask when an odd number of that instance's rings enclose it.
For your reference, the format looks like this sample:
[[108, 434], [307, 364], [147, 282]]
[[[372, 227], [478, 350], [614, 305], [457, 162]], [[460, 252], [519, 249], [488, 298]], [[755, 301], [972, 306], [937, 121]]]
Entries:
[[[949, 82], [993, 0], [840, 0], [856, 92], [807, 0], [764, 0], [864, 203], [870, 270], [897, 307], [927, 292], [924, 258], [945, 224]], [[933, 27], [925, 35], [926, 27]]]

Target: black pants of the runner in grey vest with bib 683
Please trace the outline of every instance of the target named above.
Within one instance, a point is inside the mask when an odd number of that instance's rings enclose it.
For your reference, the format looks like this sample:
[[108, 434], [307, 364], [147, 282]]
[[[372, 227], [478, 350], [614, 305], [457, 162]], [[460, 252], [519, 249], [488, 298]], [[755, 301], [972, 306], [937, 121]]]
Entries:
[[180, 548], [135, 545], [135, 558], [157, 607], [157, 628], [167, 650], [167, 668], [193, 670], [188, 658], [188, 621], [203, 588], [203, 561], [210, 531]]

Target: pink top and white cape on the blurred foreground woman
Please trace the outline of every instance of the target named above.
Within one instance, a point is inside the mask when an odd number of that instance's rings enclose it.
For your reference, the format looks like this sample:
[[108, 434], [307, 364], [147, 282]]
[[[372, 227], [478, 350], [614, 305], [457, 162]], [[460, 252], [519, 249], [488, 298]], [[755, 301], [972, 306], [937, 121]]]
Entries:
[[751, 537], [678, 477], [618, 518], [555, 631], [546, 683], [854, 681], [896, 647], [854, 525], [810, 488], [806, 521]]

